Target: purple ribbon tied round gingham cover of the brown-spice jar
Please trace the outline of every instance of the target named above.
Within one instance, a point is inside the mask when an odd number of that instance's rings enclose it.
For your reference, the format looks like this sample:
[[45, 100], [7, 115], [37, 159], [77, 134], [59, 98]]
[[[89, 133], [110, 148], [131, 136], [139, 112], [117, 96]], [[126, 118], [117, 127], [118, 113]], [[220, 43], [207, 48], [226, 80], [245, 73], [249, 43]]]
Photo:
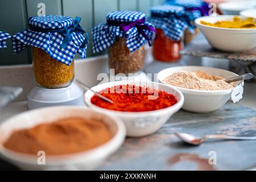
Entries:
[[144, 30], [152, 31], [156, 34], [156, 29], [148, 26], [147, 24], [144, 24], [145, 20], [145, 18], [138, 19], [134, 22], [119, 22], [117, 20], [107, 20], [107, 24], [111, 26], [119, 26], [120, 30], [123, 32], [127, 32], [131, 28], [136, 27], [139, 34], [141, 34], [148, 41], [149, 46], [151, 46], [152, 40], [155, 40], [156, 36], [153, 39], [150, 39]]

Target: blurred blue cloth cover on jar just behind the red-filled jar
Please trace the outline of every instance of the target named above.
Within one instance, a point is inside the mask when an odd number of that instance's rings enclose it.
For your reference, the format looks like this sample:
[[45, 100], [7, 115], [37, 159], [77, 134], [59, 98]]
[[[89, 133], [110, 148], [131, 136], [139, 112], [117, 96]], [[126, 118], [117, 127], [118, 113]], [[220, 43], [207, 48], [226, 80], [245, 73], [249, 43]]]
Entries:
[[166, 4], [184, 7], [185, 14], [192, 16], [192, 20], [201, 17], [201, 12], [199, 10], [186, 10], [193, 7], [201, 7], [201, 0], [166, 0]]

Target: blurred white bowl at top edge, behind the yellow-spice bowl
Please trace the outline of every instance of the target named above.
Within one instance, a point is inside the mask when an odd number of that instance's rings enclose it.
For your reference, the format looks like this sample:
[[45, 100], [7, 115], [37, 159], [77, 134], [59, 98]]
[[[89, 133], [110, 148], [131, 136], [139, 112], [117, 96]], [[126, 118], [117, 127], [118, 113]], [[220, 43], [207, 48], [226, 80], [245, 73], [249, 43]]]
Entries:
[[256, 7], [255, 0], [223, 2], [218, 5], [224, 15], [239, 15], [240, 11]]

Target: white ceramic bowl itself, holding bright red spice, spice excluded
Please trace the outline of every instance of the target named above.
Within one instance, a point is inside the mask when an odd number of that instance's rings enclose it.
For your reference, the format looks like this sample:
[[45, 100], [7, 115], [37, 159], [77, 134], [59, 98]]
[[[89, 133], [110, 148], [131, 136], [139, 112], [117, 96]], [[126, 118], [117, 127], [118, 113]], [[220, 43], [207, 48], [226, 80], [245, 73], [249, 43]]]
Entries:
[[145, 135], [149, 135], [155, 133], [160, 129], [162, 125], [178, 110], [181, 109], [184, 103], [183, 94], [175, 88], [171, 86], [167, 86], [164, 84], [159, 84], [157, 82], [149, 82], [149, 81], [115, 81], [108, 82], [105, 84], [100, 84], [94, 86], [92, 89], [99, 92], [105, 88], [109, 88], [115, 85], [125, 85], [125, 84], [133, 84], [137, 86], [148, 86], [150, 88], [156, 88], [161, 91], [165, 91], [167, 93], [171, 93], [174, 97], [177, 98], [178, 102], [170, 107], [160, 110], [154, 111], [144, 111], [144, 112], [124, 112], [124, 111], [115, 111], [104, 109], [102, 107], [96, 106], [91, 103], [91, 97], [94, 96], [94, 93], [91, 91], [87, 91], [84, 94], [84, 99], [86, 104], [92, 107], [93, 109], [111, 115], [116, 115], [120, 117], [124, 125], [127, 129], [128, 137], [142, 137]]

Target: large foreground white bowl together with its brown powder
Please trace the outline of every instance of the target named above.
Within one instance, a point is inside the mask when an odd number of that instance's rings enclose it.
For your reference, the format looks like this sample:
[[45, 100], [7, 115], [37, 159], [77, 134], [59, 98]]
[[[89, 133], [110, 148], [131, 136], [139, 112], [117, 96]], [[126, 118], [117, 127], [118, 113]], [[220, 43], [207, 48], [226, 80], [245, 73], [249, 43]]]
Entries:
[[0, 154], [25, 170], [91, 170], [117, 151], [125, 126], [79, 106], [46, 107], [0, 125]]

